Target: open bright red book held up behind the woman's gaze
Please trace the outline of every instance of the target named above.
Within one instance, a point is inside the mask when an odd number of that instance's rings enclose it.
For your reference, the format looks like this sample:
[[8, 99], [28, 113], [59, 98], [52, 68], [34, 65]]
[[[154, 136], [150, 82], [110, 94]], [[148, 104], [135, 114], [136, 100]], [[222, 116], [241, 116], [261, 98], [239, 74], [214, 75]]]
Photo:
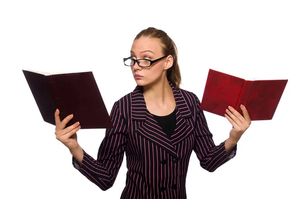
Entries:
[[243, 115], [243, 104], [251, 120], [270, 120], [286, 84], [287, 79], [244, 80], [209, 69], [200, 109], [224, 117], [230, 105]]

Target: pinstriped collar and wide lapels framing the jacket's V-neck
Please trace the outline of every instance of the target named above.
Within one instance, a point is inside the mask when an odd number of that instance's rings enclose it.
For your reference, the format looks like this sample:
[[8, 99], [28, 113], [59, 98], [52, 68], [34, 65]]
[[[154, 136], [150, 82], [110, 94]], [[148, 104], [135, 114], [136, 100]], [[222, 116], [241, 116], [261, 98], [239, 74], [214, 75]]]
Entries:
[[168, 151], [172, 156], [178, 158], [177, 151], [175, 151], [175, 145], [192, 132], [193, 124], [187, 119], [190, 118], [192, 114], [181, 90], [176, 89], [171, 82], [169, 82], [169, 85], [172, 88], [176, 102], [176, 127], [171, 139], [168, 139], [153, 115], [147, 110], [141, 86], [136, 86], [131, 93], [131, 117], [132, 120], [141, 121], [141, 125], [136, 127], [136, 133]]

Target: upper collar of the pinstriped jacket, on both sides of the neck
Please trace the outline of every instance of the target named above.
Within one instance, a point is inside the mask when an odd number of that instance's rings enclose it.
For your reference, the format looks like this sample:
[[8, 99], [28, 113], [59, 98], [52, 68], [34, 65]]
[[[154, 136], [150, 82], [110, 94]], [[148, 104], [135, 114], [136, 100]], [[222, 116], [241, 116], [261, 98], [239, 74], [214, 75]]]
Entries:
[[[192, 114], [190, 109], [182, 96], [182, 91], [180, 88], [176, 89], [175, 86], [168, 81], [169, 85], [172, 88], [173, 95], [176, 102], [176, 108], [179, 110], [181, 117], [188, 118]], [[143, 97], [143, 88], [142, 86], [136, 86], [133, 92], [131, 93], [131, 108], [132, 108], [132, 120], [144, 121], [146, 120], [147, 107], [145, 99]]]

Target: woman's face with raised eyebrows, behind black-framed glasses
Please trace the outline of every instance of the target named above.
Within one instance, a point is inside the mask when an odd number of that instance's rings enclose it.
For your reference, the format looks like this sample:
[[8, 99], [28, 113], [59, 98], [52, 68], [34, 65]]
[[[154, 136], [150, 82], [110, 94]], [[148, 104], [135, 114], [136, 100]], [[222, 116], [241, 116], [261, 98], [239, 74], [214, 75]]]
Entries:
[[[133, 41], [130, 57], [132, 59], [155, 60], [163, 57], [162, 47], [158, 39], [141, 37]], [[166, 77], [166, 70], [172, 66], [172, 56], [168, 56], [155, 62], [150, 67], [143, 68], [135, 64], [131, 66], [131, 71], [135, 82], [139, 86], [156, 83]], [[142, 77], [135, 77], [140, 75]]]

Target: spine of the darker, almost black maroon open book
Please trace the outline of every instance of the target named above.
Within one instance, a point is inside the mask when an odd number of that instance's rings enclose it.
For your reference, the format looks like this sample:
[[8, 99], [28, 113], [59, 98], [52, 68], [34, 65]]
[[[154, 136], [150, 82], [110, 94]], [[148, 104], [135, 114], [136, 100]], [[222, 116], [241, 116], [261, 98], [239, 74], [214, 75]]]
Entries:
[[[68, 111], [66, 110], [64, 103], [62, 101], [62, 98], [59, 94], [59, 90], [55, 84], [55, 81], [52, 77], [52, 75], [49, 76], [45, 76], [47, 79], [47, 84], [49, 87], [49, 90], [51, 92], [51, 95], [53, 97], [54, 103], [55, 103], [55, 110], [56, 108], [59, 110], [59, 117], [60, 117], [60, 121], [62, 121], [66, 116], [68, 116]], [[53, 117], [54, 117], [54, 112], [53, 111]]]

